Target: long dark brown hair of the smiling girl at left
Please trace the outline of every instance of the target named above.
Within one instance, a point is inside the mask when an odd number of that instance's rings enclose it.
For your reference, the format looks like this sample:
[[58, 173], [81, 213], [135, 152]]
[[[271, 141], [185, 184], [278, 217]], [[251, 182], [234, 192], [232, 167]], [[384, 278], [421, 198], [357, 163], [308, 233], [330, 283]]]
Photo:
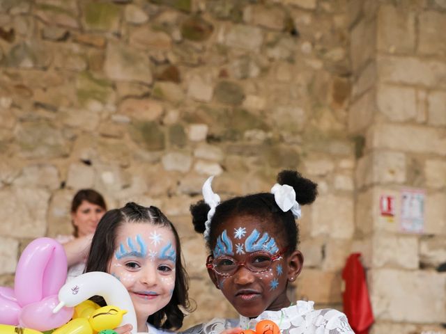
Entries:
[[[180, 238], [174, 225], [157, 207], [143, 207], [134, 202], [128, 202], [121, 209], [113, 209], [106, 212], [98, 223], [93, 240], [89, 257], [87, 258], [85, 272], [103, 271], [107, 273], [110, 260], [116, 249], [116, 234], [118, 229], [125, 223], [148, 223], [152, 225], [166, 226], [174, 233], [176, 241], [176, 273], [175, 287], [169, 303], [161, 310], [153, 313], [147, 319], [148, 323], [156, 328], [178, 329], [183, 325], [184, 313], [180, 310], [180, 306], [184, 310], [189, 310], [190, 304], [187, 296], [188, 278], [183, 267], [181, 258]], [[95, 303], [101, 306], [106, 305], [104, 299], [100, 296], [92, 298]]]

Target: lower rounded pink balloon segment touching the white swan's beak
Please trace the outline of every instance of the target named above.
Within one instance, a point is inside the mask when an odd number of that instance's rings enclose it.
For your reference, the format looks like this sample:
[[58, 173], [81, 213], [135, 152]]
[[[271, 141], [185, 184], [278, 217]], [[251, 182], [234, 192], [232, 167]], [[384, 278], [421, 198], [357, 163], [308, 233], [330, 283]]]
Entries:
[[63, 326], [70, 321], [75, 309], [64, 307], [59, 312], [53, 313], [57, 304], [59, 304], [59, 299], [54, 294], [37, 303], [26, 305], [20, 314], [20, 326], [41, 332]]

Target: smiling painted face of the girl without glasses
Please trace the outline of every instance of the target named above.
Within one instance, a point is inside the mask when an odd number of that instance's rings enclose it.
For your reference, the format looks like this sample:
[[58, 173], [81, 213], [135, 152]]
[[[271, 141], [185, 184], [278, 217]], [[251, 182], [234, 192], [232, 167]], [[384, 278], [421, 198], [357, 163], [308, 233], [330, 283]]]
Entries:
[[168, 227], [125, 223], [108, 272], [128, 290], [138, 326], [169, 303], [175, 287], [176, 241]]

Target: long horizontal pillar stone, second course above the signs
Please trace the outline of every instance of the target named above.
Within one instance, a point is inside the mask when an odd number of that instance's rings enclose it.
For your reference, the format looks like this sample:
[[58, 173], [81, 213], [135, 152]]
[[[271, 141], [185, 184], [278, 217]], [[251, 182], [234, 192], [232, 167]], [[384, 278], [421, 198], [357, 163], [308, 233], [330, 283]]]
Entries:
[[[408, 138], [417, 138], [408, 141]], [[380, 124], [369, 132], [371, 148], [446, 155], [446, 138], [439, 129], [417, 125]]]

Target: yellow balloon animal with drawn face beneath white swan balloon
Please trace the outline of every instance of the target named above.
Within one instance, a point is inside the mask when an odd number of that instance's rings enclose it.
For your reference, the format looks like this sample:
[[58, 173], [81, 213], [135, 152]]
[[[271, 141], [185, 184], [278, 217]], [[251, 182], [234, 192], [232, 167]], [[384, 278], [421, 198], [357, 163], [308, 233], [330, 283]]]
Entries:
[[79, 317], [72, 319], [68, 324], [57, 328], [52, 334], [93, 334], [110, 328], [116, 328], [121, 324], [126, 310], [117, 306], [104, 306], [94, 310], [88, 318]]

